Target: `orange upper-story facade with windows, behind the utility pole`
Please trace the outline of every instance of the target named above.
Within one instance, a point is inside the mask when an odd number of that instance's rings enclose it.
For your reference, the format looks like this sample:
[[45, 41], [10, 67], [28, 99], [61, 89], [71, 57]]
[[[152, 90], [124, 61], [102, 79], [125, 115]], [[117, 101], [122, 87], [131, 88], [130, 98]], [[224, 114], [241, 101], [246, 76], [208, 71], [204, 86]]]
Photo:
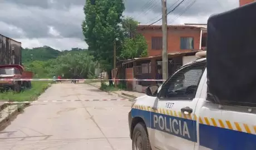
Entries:
[[[148, 56], [162, 55], [161, 25], [139, 25], [137, 33], [146, 39]], [[168, 53], [203, 50], [206, 48], [206, 38], [206, 24], [168, 25]]]

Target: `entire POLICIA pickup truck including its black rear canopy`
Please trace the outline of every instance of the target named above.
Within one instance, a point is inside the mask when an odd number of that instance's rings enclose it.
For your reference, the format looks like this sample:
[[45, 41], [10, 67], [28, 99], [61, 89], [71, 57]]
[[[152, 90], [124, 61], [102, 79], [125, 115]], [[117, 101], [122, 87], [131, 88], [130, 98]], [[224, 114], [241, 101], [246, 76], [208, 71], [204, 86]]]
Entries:
[[252, 3], [210, 17], [207, 56], [197, 53], [200, 59], [135, 99], [133, 150], [256, 149], [255, 10]]

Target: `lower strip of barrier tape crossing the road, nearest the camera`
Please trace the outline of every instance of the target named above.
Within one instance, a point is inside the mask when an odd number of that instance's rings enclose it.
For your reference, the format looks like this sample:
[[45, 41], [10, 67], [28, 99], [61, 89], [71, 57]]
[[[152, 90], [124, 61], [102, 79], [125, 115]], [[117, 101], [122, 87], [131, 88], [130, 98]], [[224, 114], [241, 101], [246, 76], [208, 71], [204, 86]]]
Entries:
[[92, 99], [92, 100], [47, 100], [47, 101], [0, 101], [0, 104], [31, 104], [41, 102], [80, 102], [80, 101], [129, 101], [130, 99]]

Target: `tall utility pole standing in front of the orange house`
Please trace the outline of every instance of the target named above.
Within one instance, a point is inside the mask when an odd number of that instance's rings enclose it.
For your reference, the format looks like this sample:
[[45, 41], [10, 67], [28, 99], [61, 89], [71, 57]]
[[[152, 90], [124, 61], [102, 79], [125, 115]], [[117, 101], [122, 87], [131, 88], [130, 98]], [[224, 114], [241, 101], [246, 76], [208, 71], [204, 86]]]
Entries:
[[168, 54], [167, 54], [166, 0], [162, 0], [162, 30], [163, 30], [162, 70], [163, 70], [163, 80], [167, 80], [168, 79]]

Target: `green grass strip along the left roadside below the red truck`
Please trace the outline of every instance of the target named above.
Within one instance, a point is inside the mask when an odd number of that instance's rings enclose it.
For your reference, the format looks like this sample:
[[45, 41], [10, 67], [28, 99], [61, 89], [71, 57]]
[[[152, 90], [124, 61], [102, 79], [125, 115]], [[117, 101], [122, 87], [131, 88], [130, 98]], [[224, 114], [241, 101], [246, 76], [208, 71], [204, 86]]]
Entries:
[[48, 81], [31, 81], [31, 89], [23, 90], [20, 93], [13, 91], [2, 92], [0, 93], [0, 100], [33, 101], [50, 86], [50, 83]]

